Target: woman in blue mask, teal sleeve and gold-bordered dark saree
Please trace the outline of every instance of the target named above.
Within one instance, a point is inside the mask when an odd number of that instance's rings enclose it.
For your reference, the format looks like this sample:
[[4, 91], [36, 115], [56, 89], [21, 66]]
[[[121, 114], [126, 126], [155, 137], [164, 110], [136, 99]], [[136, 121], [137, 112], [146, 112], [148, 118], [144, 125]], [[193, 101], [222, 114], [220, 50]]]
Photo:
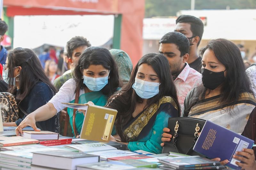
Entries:
[[131, 151], [161, 153], [161, 133], [168, 117], [179, 115], [179, 103], [168, 60], [162, 54], [144, 55], [130, 81], [108, 99], [118, 111], [112, 140], [129, 142]]

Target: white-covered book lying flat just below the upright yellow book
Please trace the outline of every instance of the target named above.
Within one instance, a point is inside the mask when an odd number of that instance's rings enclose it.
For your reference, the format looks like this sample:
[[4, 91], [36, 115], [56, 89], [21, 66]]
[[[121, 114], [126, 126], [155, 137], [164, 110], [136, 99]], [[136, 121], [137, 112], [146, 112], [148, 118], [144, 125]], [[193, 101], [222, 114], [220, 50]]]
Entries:
[[79, 152], [84, 152], [84, 153], [116, 150], [115, 147], [109, 146], [109, 145], [103, 144], [103, 143], [74, 144], [74, 145], [67, 145], [65, 147], [71, 148], [71, 149], [76, 149]]

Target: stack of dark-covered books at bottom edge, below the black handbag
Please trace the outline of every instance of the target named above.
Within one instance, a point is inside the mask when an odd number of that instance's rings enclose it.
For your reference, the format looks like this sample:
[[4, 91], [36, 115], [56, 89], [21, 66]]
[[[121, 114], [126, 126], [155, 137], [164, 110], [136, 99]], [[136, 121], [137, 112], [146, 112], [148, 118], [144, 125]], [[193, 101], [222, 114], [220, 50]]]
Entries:
[[211, 159], [202, 158], [200, 156], [187, 156], [187, 157], [171, 157], [171, 158], [158, 158], [159, 165], [162, 169], [167, 170], [188, 170], [188, 169], [224, 169], [220, 162]]

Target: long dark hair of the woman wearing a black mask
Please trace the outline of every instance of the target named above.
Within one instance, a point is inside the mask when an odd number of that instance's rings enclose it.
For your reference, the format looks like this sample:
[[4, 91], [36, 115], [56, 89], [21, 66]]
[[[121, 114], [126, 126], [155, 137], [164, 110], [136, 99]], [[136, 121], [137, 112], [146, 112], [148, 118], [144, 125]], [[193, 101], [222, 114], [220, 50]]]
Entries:
[[[225, 107], [227, 103], [231, 104], [231, 109], [241, 92], [253, 93], [240, 50], [233, 42], [221, 38], [209, 41], [202, 49], [202, 56], [207, 49], [212, 50], [220, 63], [226, 67], [227, 74], [221, 86], [220, 105]], [[188, 112], [198, 101], [204, 99], [207, 90], [203, 84], [197, 87], [193, 99], [189, 101]]]

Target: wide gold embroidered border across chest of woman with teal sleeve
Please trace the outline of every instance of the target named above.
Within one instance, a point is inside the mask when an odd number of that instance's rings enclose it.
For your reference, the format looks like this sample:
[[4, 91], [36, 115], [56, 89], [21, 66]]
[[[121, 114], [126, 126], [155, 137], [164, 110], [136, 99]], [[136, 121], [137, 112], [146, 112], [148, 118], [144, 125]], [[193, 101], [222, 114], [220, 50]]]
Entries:
[[162, 97], [158, 103], [154, 103], [148, 107], [128, 128], [124, 130], [124, 136], [128, 141], [133, 140], [140, 135], [140, 132], [148, 124], [151, 117], [158, 111], [161, 104], [164, 103], [171, 103], [172, 106], [178, 110], [177, 103], [172, 97]]

